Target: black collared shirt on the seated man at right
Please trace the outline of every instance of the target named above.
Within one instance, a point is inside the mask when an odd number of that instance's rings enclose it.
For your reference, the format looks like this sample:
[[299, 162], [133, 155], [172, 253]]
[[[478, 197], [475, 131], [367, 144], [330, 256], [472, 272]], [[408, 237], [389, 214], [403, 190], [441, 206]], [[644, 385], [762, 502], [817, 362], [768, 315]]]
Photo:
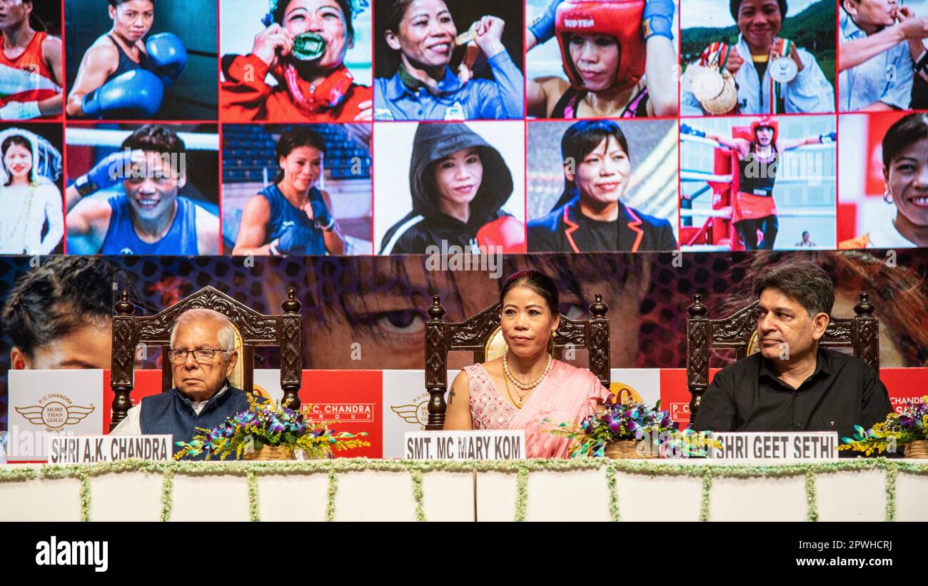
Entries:
[[[760, 352], [723, 368], [702, 395], [693, 427], [710, 431], [837, 431], [838, 441], [893, 411], [873, 368], [818, 349], [815, 372], [793, 389]], [[844, 452], [843, 452], [844, 453]]]

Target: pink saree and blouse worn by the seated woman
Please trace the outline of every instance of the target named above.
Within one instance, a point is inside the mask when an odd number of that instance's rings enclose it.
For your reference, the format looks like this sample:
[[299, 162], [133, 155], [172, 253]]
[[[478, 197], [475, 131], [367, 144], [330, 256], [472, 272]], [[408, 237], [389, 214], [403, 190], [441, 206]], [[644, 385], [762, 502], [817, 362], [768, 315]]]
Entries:
[[[597, 399], [609, 395], [593, 373], [559, 360], [545, 380], [516, 409], [496, 389], [483, 364], [464, 367], [474, 429], [524, 429], [529, 458], [566, 458], [570, 440], [548, 433], [560, 423], [579, 423], [596, 411]], [[544, 423], [548, 418], [551, 423]]]

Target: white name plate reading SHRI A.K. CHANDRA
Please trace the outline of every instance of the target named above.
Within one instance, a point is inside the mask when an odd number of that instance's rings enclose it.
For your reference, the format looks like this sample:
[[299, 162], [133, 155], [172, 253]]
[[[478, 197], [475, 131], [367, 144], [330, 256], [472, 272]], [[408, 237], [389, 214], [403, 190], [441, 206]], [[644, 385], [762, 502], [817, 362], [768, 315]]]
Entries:
[[129, 458], [168, 462], [173, 436], [71, 436], [48, 438], [48, 464], [97, 464]]

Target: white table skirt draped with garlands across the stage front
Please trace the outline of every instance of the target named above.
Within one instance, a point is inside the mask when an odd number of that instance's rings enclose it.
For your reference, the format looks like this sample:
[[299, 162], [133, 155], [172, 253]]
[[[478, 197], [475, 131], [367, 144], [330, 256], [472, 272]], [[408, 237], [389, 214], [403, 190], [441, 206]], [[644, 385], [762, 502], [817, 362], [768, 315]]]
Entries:
[[0, 466], [0, 521], [164, 518], [926, 521], [928, 461]]

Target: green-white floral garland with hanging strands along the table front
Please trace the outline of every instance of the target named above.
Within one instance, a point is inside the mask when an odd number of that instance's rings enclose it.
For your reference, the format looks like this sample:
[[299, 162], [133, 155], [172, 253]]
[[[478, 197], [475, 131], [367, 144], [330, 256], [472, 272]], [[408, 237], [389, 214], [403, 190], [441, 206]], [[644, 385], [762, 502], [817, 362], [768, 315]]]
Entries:
[[[885, 458], [868, 458], [844, 462], [820, 462], [791, 465], [699, 465], [688, 466], [677, 463], [660, 463], [653, 461], [624, 461], [604, 459], [573, 460], [368, 460], [367, 458], [318, 460], [303, 462], [150, 462], [146, 460], [122, 460], [92, 465], [43, 465], [38, 468], [0, 468], [0, 482], [22, 482], [41, 478], [79, 478], [81, 479], [81, 518], [90, 519], [90, 478], [122, 473], [140, 472], [161, 474], [161, 520], [171, 518], [173, 478], [182, 476], [223, 476], [234, 475], [248, 478], [249, 482], [249, 516], [260, 520], [257, 478], [278, 476], [281, 474], [309, 475], [327, 473], [329, 475], [328, 503], [326, 518], [335, 518], [335, 497], [338, 491], [338, 474], [376, 470], [382, 472], [407, 472], [412, 476], [413, 498], [416, 502], [417, 519], [426, 520], [424, 497], [421, 490], [421, 474], [427, 472], [501, 472], [515, 473], [516, 515], [517, 520], [525, 518], [527, 509], [528, 478], [531, 472], [570, 472], [574, 470], [596, 470], [606, 468], [606, 482], [610, 490], [610, 517], [620, 520], [619, 500], [614, 488], [615, 474], [635, 474], [645, 476], [702, 478], [702, 501], [700, 519], [710, 519], [710, 495], [714, 478], [806, 478], [806, 503], [809, 520], [818, 519], [816, 506], [816, 488], [814, 477], [818, 474], [836, 472], [885, 470], [886, 471], [886, 520], [896, 519], [896, 478], [898, 474], [928, 476], [928, 465], [911, 464]], [[251, 478], [255, 478], [251, 480]], [[417, 478], [419, 478], [417, 480]], [[810, 479], [811, 478], [811, 479]], [[253, 486], [253, 490], [252, 490]]]

